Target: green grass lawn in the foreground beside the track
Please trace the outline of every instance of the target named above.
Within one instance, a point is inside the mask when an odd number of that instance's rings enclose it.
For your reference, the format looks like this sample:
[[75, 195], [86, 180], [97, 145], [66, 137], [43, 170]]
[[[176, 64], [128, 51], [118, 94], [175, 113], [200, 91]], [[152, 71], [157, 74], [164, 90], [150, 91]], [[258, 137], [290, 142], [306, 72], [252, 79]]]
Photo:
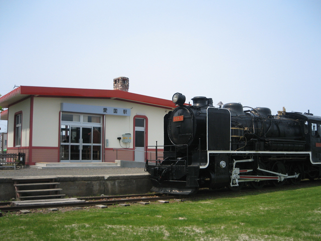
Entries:
[[67, 212], [7, 214], [0, 240], [321, 240], [321, 186]]

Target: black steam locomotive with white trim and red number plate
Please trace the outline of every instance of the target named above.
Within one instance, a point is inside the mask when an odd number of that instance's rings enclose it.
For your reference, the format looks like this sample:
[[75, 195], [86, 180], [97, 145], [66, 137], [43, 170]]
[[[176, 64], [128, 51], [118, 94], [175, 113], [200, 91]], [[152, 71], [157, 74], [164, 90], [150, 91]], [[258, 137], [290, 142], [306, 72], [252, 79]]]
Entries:
[[177, 107], [164, 117], [164, 146], [156, 146], [156, 159], [146, 161], [153, 191], [238, 190], [244, 183], [261, 188], [321, 175], [321, 117], [284, 108], [272, 115], [269, 108], [240, 103], [214, 107], [206, 97], [192, 100], [187, 105], [183, 94], [173, 96]]

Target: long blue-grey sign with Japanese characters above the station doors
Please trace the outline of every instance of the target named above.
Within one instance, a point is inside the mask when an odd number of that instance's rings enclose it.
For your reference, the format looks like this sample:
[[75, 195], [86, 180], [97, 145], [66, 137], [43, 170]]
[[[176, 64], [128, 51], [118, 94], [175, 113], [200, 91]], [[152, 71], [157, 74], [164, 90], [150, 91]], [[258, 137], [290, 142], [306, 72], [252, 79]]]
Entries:
[[60, 110], [66, 111], [66, 112], [130, 116], [130, 109], [127, 109], [127, 108], [97, 106], [97, 105], [87, 105], [87, 104], [61, 103]]

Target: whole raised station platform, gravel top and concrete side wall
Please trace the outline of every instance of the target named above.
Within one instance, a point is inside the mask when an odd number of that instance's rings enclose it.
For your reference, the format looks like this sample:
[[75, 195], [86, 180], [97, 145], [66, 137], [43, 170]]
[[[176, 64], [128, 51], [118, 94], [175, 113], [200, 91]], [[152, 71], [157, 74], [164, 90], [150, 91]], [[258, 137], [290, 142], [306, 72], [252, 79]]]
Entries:
[[[65, 197], [140, 194], [151, 189], [149, 174], [144, 171], [144, 162], [117, 160], [113, 163], [115, 166], [106, 165], [105, 168], [79, 167], [78, 163], [51, 164], [55, 168], [46, 168], [48, 164], [41, 164], [42, 168], [27, 166], [17, 170], [0, 169], [0, 201], [16, 198], [15, 178], [56, 178], [55, 182], [60, 183], [58, 188], [63, 189], [60, 194], [66, 194]], [[73, 165], [63, 166], [65, 164]]]

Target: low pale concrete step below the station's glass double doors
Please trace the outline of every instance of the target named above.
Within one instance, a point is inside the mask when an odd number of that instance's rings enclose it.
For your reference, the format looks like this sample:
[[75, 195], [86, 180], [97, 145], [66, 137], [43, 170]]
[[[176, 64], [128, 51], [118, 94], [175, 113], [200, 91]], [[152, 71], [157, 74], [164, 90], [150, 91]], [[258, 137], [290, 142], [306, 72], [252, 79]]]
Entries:
[[59, 168], [120, 168], [120, 163], [109, 162], [77, 162], [77, 163], [48, 163], [37, 162], [35, 165], [30, 166], [38, 169], [59, 169]]

